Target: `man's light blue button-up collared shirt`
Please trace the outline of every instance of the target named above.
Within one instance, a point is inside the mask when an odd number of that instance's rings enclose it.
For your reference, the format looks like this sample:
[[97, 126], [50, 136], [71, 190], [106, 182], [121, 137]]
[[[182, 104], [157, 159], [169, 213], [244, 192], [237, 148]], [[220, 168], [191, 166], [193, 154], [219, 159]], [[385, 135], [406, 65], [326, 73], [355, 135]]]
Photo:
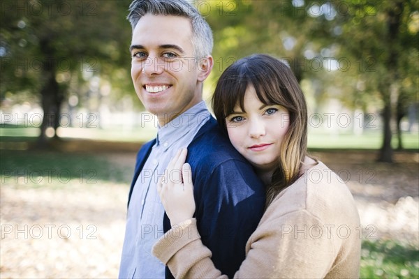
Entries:
[[191, 143], [208, 119], [210, 112], [202, 101], [158, 128], [156, 144], [131, 195], [119, 278], [165, 278], [165, 266], [152, 255], [152, 246], [163, 236], [164, 208], [156, 183], [175, 153]]

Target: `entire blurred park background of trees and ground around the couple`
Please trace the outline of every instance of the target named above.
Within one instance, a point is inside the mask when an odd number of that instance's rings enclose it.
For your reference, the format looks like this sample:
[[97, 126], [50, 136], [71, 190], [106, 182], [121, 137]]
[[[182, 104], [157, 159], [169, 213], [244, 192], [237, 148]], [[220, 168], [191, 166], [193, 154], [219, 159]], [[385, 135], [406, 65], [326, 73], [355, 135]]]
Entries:
[[[190, 2], [214, 31], [208, 105], [233, 61], [286, 61], [309, 151], [360, 211], [361, 277], [418, 278], [418, 1]], [[1, 278], [117, 277], [135, 153], [156, 134], [131, 82], [129, 3], [1, 1]]]

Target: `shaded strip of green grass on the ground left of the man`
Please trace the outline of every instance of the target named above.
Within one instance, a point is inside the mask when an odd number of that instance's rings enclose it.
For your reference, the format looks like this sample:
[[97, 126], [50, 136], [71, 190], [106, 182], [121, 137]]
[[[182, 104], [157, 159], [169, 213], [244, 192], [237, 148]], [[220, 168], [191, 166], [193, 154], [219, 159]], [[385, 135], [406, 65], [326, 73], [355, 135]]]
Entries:
[[2, 184], [59, 188], [101, 181], [128, 184], [133, 166], [115, 165], [100, 154], [0, 150], [0, 172]]

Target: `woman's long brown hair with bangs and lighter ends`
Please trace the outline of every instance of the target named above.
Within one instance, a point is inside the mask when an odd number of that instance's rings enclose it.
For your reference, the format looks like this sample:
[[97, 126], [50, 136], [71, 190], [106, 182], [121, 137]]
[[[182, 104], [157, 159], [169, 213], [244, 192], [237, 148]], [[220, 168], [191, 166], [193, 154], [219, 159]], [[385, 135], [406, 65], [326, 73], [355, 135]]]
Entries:
[[290, 116], [278, 166], [267, 185], [269, 205], [281, 190], [297, 180], [307, 156], [307, 105], [295, 75], [285, 63], [267, 54], [253, 54], [229, 66], [216, 85], [212, 107], [223, 130], [227, 130], [226, 117], [236, 104], [244, 111], [244, 95], [249, 84], [253, 85], [260, 102], [281, 105]]

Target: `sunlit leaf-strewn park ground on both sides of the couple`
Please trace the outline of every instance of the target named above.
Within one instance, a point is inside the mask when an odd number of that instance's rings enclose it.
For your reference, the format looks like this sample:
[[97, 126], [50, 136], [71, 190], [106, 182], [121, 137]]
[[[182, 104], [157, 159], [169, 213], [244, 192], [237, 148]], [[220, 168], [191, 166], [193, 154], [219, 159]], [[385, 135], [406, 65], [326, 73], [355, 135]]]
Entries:
[[[135, 152], [0, 151], [1, 278], [117, 278]], [[419, 277], [419, 153], [314, 151], [351, 189], [362, 278]]]

